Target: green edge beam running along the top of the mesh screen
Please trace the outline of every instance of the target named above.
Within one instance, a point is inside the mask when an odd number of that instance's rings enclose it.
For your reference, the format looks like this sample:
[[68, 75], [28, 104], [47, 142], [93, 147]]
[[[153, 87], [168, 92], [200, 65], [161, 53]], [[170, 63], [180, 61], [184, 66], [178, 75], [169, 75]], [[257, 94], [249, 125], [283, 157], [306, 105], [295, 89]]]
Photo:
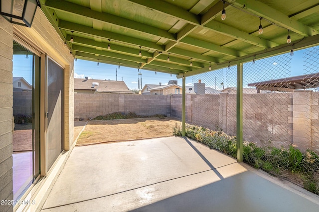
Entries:
[[249, 54], [249, 55], [237, 58], [235, 60], [226, 61], [226, 62], [223, 62], [220, 64], [212, 64], [211, 70], [208, 70], [208, 66], [207, 66], [207, 67], [203, 67], [201, 69], [197, 69], [194, 71], [189, 71], [187, 73], [179, 74], [176, 77], [182, 78], [183, 76], [192, 76], [192, 75], [196, 75], [196, 74], [200, 74], [200, 73], [204, 73], [204, 72], [208, 72], [208, 71], [223, 69], [223, 68], [228, 67], [228, 64], [230, 66], [234, 66], [237, 63], [246, 63], [246, 62], [252, 61], [254, 57], [255, 57], [255, 60], [258, 60], [258, 59], [262, 59], [262, 58], [267, 58], [267, 57], [283, 54], [285, 52], [288, 53], [291, 51], [292, 47], [294, 48], [294, 50], [299, 50], [299, 49], [305, 49], [305, 48], [312, 47], [312, 46], [317, 46], [318, 41], [319, 41], [319, 35], [305, 37], [303, 39], [294, 41], [291, 44], [282, 44], [280, 46], [276, 46], [274, 48], [255, 52], [253, 54]]

